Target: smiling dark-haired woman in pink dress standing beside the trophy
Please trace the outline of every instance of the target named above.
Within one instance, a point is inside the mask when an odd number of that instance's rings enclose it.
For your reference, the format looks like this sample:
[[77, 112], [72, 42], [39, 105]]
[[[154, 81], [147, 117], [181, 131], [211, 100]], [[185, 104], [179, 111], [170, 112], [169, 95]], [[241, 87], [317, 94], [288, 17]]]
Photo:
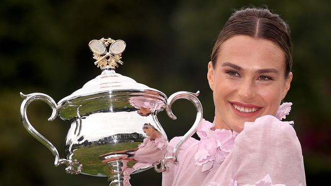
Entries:
[[[267, 9], [236, 11], [214, 45], [207, 78], [214, 122], [203, 120], [200, 141], [180, 148], [162, 185], [306, 185], [300, 143], [281, 121], [292, 80], [288, 25]], [[178, 137], [170, 142], [171, 154]]]

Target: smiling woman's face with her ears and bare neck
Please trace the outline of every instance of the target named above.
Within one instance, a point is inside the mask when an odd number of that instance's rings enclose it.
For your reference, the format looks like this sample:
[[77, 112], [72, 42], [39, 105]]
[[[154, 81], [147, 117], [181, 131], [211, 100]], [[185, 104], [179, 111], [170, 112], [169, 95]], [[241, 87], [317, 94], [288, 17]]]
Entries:
[[285, 66], [284, 52], [272, 41], [242, 35], [225, 41], [215, 67], [208, 64], [215, 128], [241, 132], [245, 121], [275, 115], [292, 80]]

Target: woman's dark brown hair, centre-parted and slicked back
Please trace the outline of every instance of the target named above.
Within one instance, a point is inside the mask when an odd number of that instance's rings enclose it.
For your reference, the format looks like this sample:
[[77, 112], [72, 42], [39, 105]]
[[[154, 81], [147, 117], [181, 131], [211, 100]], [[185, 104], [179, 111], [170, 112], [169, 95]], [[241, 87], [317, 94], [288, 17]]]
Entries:
[[246, 8], [234, 12], [217, 36], [211, 53], [213, 67], [220, 45], [233, 36], [246, 35], [277, 44], [285, 53], [285, 77], [292, 69], [292, 42], [288, 24], [278, 15], [265, 8]]

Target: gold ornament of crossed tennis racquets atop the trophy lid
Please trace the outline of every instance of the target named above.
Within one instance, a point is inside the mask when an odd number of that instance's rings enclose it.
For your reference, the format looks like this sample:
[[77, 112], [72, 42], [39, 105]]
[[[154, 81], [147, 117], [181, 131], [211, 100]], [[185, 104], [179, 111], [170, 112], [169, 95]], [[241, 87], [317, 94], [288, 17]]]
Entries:
[[[107, 46], [109, 47], [109, 51], [107, 52]], [[100, 40], [92, 40], [89, 43], [90, 50], [93, 52], [93, 58], [96, 59], [94, 62], [97, 67], [100, 69], [104, 68], [117, 68], [118, 63], [123, 65], [123, 61], [121, 55], [125, 50], [126, 44], [122, 40], [113, 40], [111, 38]], [[109, 57], [109, 58], [107, 58]]]

